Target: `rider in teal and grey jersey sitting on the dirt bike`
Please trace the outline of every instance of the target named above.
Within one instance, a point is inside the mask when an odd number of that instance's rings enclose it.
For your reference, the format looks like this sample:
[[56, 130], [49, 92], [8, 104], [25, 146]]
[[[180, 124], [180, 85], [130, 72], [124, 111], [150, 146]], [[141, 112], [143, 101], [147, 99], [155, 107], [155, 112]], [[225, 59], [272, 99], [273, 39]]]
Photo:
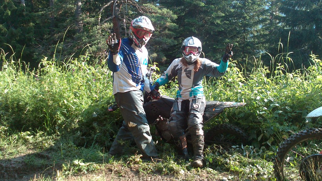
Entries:
[[[223, 76], [228, 68], [228, 59], [233, 55], [232, 44], [227, 45], [220, 64], [200, 58], [202, 43], [194, 36], [186, 38], [181, 45], [183, 57], [175, 59], [162, 76], [153, 84], [155, 90], [177, 77], [179, 90], [171, 110], [169, 131], [186, 160], [189, 159], [185, 129], [192, 138], [194, 157], [191, 166], [203, 167], [204, 131], [202, 116], [206, 106], [203, 77]], [[153, 92], [151, 92], [153, 94]]]

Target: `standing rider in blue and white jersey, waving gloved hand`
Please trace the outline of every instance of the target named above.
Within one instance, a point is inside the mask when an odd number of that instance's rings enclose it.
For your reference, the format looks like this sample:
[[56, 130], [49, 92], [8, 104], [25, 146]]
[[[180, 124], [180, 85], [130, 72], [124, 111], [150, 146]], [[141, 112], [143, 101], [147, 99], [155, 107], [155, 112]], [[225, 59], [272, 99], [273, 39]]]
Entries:
[[143, 109], [143, 89], [150, 89], [146, 78], [148, 52], [145, 45], [154, 31], [153, 25], [146, 16], [132, 20], [129, 37], [116, 39], [112, 33], [106, 43], [109, 46], [108, 67], [113, 72], [113, 94], [124, 119], [109, 154], [123, 153], [124, 141], [135, 140], [143, 158], [157, 157], [156, 148], [150, 134], [150, 127]]

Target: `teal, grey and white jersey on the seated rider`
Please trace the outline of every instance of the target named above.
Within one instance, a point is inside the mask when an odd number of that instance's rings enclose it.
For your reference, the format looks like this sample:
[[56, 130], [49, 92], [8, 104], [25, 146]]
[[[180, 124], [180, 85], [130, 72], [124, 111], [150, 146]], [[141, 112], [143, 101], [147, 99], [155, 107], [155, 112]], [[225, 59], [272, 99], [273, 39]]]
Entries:
[[175, 59], [161, 77], [156, 80], [160, 86], [168, 83], [172, 78], [178, 77], [179, 90], [176, 97], [189, 98], [192, 96], [204, 96], [202, 80], [204, 76], [220, 77], [225, 74], [228, 62], [221, 60], [220, 64], [211, 62], [206, 58], [199, 58], [201, 65], [198, 71], [194, 71], [194, 63], [188, 66], [180, 62], [181, 58]]

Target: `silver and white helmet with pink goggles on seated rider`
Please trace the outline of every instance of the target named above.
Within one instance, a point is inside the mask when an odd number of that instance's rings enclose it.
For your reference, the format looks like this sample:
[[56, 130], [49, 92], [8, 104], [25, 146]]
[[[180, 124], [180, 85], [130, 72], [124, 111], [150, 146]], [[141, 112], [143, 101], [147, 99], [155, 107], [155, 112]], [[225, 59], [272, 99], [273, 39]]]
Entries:
[[181, 45], [182, 55], [188, 62], [194, 62], [200, 56], [202, 51], [202, 45], [198, 38], [188, 37], [186, 38]]

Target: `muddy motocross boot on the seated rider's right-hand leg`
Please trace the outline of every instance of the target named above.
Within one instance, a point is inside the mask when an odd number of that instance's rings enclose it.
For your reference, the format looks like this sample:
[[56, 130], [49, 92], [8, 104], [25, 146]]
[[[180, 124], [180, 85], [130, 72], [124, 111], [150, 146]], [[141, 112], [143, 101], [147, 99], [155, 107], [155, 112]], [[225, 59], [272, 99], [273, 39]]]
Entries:
[[194, 168], [204, 167], [204, 135], [191, 135], [194, 149], [194, 161], [191, 166]]

